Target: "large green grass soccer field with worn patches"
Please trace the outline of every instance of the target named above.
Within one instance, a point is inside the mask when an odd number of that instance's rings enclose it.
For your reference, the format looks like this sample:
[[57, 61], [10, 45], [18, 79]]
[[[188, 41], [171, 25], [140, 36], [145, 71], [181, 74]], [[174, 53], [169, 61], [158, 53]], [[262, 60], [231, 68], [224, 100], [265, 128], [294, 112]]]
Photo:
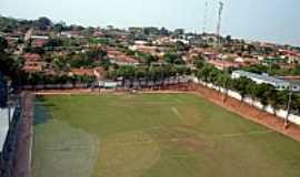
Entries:
[[300, 143], [192, 94], [37, 100], [34, 177], [299, 177]]

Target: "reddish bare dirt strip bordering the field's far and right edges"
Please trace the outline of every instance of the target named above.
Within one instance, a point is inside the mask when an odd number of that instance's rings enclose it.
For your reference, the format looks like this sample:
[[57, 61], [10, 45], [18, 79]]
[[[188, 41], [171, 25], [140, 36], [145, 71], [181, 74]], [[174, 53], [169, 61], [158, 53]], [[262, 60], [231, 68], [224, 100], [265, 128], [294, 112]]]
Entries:
[[[63, 94], [101, 94], [101, 93], [114, 93], [114, 94], [123, 94], [123, 93], [132, 93], [127, 90], [53, 90], [53, 91], [39, 91], [36, 92], [36, 95], [63, 95]], [[241, 115], [244, 118], [248, 118], [252, 122], [267, 126], [276, 132], [284, 134], [293, 138], [294, 140], [300, 142], [300, 126], [290, 124], [288, 128], [283, 126], [283, 119], [277, 117], [276, 115], [266, 113], [260, 111], [253, 106], [248, 105], [247, 103], [242, 103], [232, 97], [227, 97], [226, 102], [223, 102], [223, 94], [204, 87], [202, 85], [196, 84], [183, 84], [183, 85], [173, 85], [168, 86], [161, 90], [141, 90], [138, 93], [193, 93], [198, 96], [204, 97], [236, 114]]]

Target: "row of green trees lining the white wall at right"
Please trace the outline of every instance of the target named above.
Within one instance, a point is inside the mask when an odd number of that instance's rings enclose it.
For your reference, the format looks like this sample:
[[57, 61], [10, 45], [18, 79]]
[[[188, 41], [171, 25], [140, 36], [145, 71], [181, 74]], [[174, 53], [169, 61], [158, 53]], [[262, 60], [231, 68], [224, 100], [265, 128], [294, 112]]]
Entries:
[[[248, 96], [259, 101], [264, 107], [271, 105], [274, 110], [288, 110], [289, 94], [291, 93], [287, 90], [279, 91], [270, 84], [257, 84], [247, 77], [233, 80], [227, 72], [220, 71], [209, 64], [200, 65], [197, 76], [201, 81], [212, 83], [220, 88], [224, 87], [226, 90], [237, 91], [241, 95], [242, 101]], [[291, 95], [290, 111], [300, 114], [300, 95], [297, 93], [292, 93]]]

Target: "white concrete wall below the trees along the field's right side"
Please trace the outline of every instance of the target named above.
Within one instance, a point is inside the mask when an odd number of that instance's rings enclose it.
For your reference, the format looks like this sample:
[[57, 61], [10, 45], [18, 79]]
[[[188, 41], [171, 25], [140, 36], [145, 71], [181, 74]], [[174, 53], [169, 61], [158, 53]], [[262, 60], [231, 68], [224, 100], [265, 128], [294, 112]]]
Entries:
[[[211, 84], [211, 83], [204, 83], [203, 81], [199, 81], [197, 77], [193, 79], [193, 82], [197, 83], [197, 84], [204, 85], [204, 86], [207, 86], [207, 87], [209, 87], [209, 88], [213, 88], [213, 90], [216, 90], [216, 91], [218, 91], [218, 92], [224, 93], [224, 90], [223, 90], [222, 87], [216, 86], [216, 85], [213, 85], [213, 84]], [[230, 97], [233, 97], [233, 98], [236, 98], [236, 100], [241, 101], [241, 95], [240, 95], [238, 92], [228, 90], [228, 95], [229, 95]], [[262, 104], [261, 104], [260, 102], [258, 102], [258, 101], [253, 101], [251, 97], [246, 97], [246, 98], [243, 100], [243, 102], [247, 103], [247, 104], [249, 104], [249, 105], [252, 105], [252, 106], [254, 106], [254, 107], [257, 107], [257, 108], [259, 108], [259, 110], [263, 110]], [[268, 112], [268, 113], [270, 113], [270, 114], [274, 114], [274, 113], [276, 113], [277, 117], [282, 118], [282, 119], [284, 119], [284, 118], [287, 117], [287, 114], [288, 114], [287, 111], [284, 111], [284, 110], [274, 110], [274, 108], [273, 108], [272, 106], [270, 106], [270, 105], [268, 105], [267, 107], [264, 107], [263, 111], [264, 111], [264, 112]], [[299, 116], [299, 115], [290, 114], [288, 118], [289, 118], [289, 121], [290, 121], [291, 123], [294, 123], [294, 124], [300, 125], [300, 116]]]

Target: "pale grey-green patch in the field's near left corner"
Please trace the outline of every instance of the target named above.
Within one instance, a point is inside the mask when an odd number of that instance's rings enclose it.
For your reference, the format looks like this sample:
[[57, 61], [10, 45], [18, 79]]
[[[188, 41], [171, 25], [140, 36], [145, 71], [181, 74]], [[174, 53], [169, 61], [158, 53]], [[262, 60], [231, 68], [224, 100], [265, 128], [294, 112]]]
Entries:
[[98, 138], [80, 128], [54, 118], [40, 122], [34, 125], [32, 176], [90, 177], [98, 148]]

